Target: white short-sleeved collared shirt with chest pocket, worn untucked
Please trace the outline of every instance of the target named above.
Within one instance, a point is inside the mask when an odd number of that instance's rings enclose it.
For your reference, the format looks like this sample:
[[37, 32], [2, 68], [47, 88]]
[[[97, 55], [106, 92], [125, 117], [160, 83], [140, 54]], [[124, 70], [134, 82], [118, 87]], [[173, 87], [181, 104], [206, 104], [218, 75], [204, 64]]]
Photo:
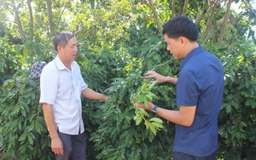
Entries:
[[87, 87], [76, 61], [71, 63], [71, 71], [58, 55], [44, 66], [40, 77], [40, 103], [52, 105], [61, 133], [79, 134], [79, 129], [80, 133], [84, 132], [81, 92]]

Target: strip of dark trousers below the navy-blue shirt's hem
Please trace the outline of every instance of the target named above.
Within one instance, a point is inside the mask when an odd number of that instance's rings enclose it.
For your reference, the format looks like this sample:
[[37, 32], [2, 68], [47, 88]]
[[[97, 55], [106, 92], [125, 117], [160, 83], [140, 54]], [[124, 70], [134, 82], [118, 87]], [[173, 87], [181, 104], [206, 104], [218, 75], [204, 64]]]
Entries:
[[179, 151], [173, 151], [173, 160], [216, 160], [217, 151], [207, 157], [196, 157]]

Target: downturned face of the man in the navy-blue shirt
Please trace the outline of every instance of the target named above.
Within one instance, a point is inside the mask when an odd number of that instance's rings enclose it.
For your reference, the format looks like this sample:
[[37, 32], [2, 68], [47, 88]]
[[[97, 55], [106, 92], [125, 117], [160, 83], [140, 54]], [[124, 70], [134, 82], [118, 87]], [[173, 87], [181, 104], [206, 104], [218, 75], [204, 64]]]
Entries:
[[167, 43], [167, 50], [170, 51], [172, 56], [176, 60], [182, 60], [183, 57], [183, 43], [180, 37], [178, 38], [170, 38], [165, 35], [165, 40]]

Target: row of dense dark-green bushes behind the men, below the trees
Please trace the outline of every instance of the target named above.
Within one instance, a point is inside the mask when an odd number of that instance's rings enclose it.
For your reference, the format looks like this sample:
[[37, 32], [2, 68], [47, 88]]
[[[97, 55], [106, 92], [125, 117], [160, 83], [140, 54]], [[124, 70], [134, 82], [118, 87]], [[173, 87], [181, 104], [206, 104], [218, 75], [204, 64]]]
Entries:
[[[174, 124], [164, 121], [164, 129], [154, 135], [143, 123], [136, 125], [130, 102], [143, 83], [146, 71], [154, 69], [166, 76], [178, 76], [178, 60], [166, 51], [160, 37], [143, 46], [113, 51], [108, 48], [79, 55], [84, 80], [91, 89], [108, 94], [107, 102], [83, 99], [88, 159], [170, 159]], [[80, 42], [81, 45], [83, 42]], [[236, 47], [237, 46], [237, 47]], [[224, 100], [218, 118], [218, 158], [253, 159], [256, 151], [255, 47], [238, 42], [233, 46], [207, 44], [225, 71]], [[0, 107], [0, 148], [3, 158], [51, 159], [50, 140], [39, 101], [39, 82], [28, 78], [29, 71], [17, 71], [3, 83]], [[111, 83], [111, 84], [110, 84]], [[177, 110], [172, 84], [157, 84], [154, 103]], [[149, 118], [155, 117], [149, 112]]]

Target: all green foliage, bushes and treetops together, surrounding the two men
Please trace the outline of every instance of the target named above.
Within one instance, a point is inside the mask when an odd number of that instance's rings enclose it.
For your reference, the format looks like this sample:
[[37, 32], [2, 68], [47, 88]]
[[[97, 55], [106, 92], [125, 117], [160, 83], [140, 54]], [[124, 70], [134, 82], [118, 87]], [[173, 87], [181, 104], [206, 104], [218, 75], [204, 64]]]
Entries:
[[[173, 123], [159, 117], [164, 128], [154, 135], [143, 123], [137, 125], [133, 119], [136, 109], [131, 95], [143, 86], [145, 72], [154, 70], [178, 77], [180, 71], [179, 61], [166, 51], [152, 9], [138, 2], [52, 1], [55, 32], [73, 31], [79, 39], [78, 62], [85, 83], [90, 89], [112, 97], [107, 102], [83, 99], [88, 159], [172, 157]], [[154, 2], [160, 22], [164, 23], [171, 16], [172, 1]], [[187, 16], [196, 20], [205, 2], [189, 1]], [[240, 2], [243, 10], [238, 14], [231, 11], [222, 44], [216, 43], [225, 5], [218, 5], [209, 30], [208, 4], [198, 24], [201, 35], [207, 33], [200, 43], [218, 56], [225, 71], [224, 100], [218, 122], [220, 159], [246, 160], [256, 156], [255, 46], [247, 40], [248, 37], [254, 40], [252, 26], [255, 26], [256, 12], [251, 1]], [[38, 104], [39, 82], [28, 78], [28, 68], [38, 60], [49, 62], [55, 52], [50, 44], [47, 5], [41, 0], [32, 3], [33, 27], [26, 1], [0, 3], [0, 156], [5, 159], [53, 156], [42, 107]], [[175, 9], [175, 14], [181, 14], [183, 2], [175, 3]], [[15, 13], [20, 16], [26, 42], [21, 40]], [[32, 32], [32, 39], [28, 38]], [[178, 109], [172, 84], [156, 84], [152, 93], [158, 97], [154, 104]], [[148, 119], [154, 118], [147, 113]]]

